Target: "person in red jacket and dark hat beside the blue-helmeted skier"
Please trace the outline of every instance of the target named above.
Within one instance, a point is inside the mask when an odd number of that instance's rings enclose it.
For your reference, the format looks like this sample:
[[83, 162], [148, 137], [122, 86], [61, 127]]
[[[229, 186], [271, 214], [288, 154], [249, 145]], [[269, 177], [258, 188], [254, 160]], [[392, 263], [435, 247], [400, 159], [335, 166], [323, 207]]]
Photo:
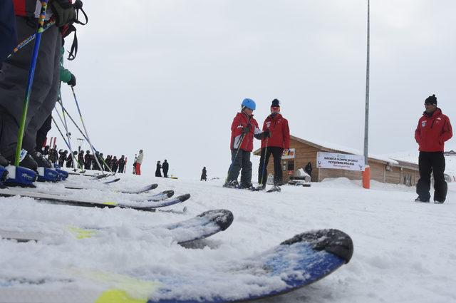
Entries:
[[261, 140], [261, 156], [258, 168], [259, 189], [266, 188], [269, 157], [274, 157], [274, 186], [279, 188], [282, 184], [282, 169], [280, 160], [282, 153], [290, 148], [290, 129], [288, 120], [280, 114], [280, 102], [274, 99], [271, 104], [271, 115], [263, 123], [263, 131], [267, 134]]

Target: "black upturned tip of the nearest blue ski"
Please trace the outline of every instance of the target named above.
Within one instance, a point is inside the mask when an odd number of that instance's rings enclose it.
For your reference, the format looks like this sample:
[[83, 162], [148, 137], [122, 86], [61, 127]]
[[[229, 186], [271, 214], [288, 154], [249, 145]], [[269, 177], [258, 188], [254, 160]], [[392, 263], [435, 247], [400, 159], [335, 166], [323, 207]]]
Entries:
[[296, 235], [281, 245], [292, 245], [297, 242], [309, 242], [314, 250], [325, 250], [340, 257], [348, 263], [353, 256], [353, 241], [341, 230], [316, 230]]

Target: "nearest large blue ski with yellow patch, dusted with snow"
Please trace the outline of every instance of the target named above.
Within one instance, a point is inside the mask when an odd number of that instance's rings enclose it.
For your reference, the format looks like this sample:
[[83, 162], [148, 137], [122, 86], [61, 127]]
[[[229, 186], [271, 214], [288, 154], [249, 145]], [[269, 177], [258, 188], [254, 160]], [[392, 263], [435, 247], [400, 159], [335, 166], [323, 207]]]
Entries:
[[[48, 277], [0, 275], [0, 302], [93, 303], [231, 303], [251, 302], [292, 292], [312, 284], [348, 263], [351, 237], [340, 230], [296, 235], [259, 255], [216, 262], [180, 274], [140, 271], [138, 274], [61, 269]], [[174, 265], [177, 266], [177, 265]]]

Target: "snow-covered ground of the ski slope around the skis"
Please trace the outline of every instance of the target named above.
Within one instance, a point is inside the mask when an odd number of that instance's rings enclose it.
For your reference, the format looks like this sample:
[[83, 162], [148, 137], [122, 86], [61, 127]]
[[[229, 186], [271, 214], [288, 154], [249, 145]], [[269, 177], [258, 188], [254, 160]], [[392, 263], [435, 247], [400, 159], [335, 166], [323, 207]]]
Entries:
[[[118, 231], [83, 240], [70, 236], [38, 243], [0, 240], [0, 278], [58, 277], [62, 268], [72, 267], [120, 274], [182, 274], [222, 261], [235, 263], [300, 232], [337, 228], [353, 239], [355, 252], [348, 265], [309, 287], [260, 302], [456, 302], [456, 183], [449, 184], [447, 201], [435, 205], [413, 202], [415, 188], [373, 182], [371, 190], [363, 190], [359, 182], [344, 178], [312, 183], [311, 188], [284, 186], [281, 193], [222, 188], [223, 180], [121, 178], [110, 188], [158, 183], [153, 192], [190, 192], [192, 197], [184, 204], [167, 207], [182, 210], [187, 206], [187, 213], [94, 209], [0, 197], [0, 225], [36, 224], [43, 230], [58, 224], [98, 225]], [[101, 186], [80, 176], [71, 176], [66, 184]], [[39, 187], [63, 190], [63, 185]], [[103, 200], [128, 199], [128, 195], [100, 190], [66, 192]], [[138, 229], [219, 208], [234, 213], [232, 226], [193, 247], [181, 247], [167, 237], [143, 235]], [[233, 281], [225, 283], [233, 285], [232, 292], [239, 289]]]

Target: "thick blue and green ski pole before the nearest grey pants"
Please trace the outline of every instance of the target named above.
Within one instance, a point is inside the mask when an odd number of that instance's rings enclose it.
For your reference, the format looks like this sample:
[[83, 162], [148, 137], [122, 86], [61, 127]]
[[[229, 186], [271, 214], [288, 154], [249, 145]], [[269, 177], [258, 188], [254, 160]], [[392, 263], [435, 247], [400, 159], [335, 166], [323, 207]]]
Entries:
[[30, 101], [31, 86], [33, 84], [33, 76], [35, 75], [36, 59], [38, 58], [38, 50], [40, 48], [41, 34], [43, 34], [43, 24], [46, 18], [46, 10], [48, 9], [48, 0], [41, 1], [41, 12], [38, 19], [38, 29], [36, 29], [35, 45], [33, 46], [33, 53], [31, 56], [30, 69], [28, 70], [26, 96], [24, 98], [24, 108], [22, 109], [21, 122], [19, 123], [19, 133], [17, 138], [16, 159], [14, 165], [19, 166], [22, 150], [22, 140], [24, 140], [24, 131], [26, 128], [26, 118], [28, 111], [28, 103]]

